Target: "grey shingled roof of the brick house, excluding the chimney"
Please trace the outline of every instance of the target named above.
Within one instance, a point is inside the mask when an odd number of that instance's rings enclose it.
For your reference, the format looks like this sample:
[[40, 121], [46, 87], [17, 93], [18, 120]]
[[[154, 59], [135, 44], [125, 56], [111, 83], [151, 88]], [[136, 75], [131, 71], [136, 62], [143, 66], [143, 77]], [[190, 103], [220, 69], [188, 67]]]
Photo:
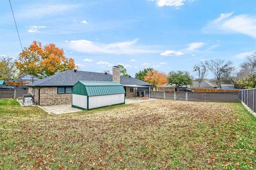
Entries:
[[[73, 86], [77, 81], [113, 81], [111, 74], [67, 70], [50, 77], [37, 80], [34, 83], [26, 84], [26, 86], [37, 87], [57, 87], [57, 86]], [[140, 85], [150, 86], [151, 84], [132, 77], [120, 77], [120, 83], [123, 85]]]

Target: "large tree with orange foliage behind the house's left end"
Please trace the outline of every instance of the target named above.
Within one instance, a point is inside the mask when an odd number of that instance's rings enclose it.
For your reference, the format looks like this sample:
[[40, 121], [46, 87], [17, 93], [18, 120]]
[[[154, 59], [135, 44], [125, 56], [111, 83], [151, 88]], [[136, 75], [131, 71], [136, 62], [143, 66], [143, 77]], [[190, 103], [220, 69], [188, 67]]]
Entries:
[[75, 68], [73, 58], [65, 57], [62, 48], [56, 47], [55, 44], [42, 46], [37, 41], [24, 48], [15, 65], [19, 74], [31, 74], [39, 79]]

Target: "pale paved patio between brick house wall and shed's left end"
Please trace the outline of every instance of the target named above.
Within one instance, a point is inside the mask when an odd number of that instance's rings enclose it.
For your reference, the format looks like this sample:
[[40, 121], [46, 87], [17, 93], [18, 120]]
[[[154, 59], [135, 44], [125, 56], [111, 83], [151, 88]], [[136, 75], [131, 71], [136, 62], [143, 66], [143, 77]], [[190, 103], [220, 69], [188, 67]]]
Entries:
[[83, 110], [71, 107], [71, 104], [66, 105], [52, 105], [52, 106], [39, 106], [44, 111], [52, 114], [64, 114], [64, 113], [74, 113], [74, 112], [81, 112]]

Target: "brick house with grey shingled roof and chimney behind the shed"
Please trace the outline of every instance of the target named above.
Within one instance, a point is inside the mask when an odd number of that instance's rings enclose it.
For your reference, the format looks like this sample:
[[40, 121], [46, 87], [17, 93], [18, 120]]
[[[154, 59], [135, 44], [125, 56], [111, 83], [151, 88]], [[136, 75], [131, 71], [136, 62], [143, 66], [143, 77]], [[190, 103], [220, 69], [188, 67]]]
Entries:
[[87, 71], [67, 70], [27, 84], [28, 93], [41, 106], [71, 104], [71, 92], [77, 81], [115, 81], [124, 86], [125, 96], [134, 96], [134, 88], [149, 89], [149, 83], [132, 77], [120, 76], [120, 68], [113, 67], [113, 75]]

